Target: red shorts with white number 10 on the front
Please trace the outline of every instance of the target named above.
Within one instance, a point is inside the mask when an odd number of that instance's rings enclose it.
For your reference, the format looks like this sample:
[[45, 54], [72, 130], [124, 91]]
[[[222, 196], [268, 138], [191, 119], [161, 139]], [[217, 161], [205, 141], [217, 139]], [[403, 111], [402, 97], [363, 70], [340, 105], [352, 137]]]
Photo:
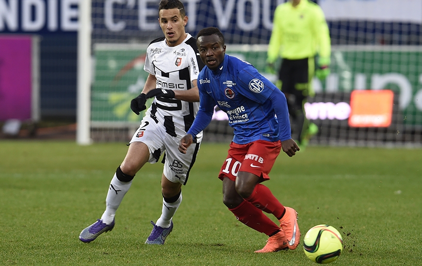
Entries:
[[230, 143], [226, 162], [221, 167], [218, 178], [228, 177], [235, 181], [239, 171], [248, 172], [270, 179], [268, 174], [281, 150], [281, 141], [257, 140], [248, 144]]

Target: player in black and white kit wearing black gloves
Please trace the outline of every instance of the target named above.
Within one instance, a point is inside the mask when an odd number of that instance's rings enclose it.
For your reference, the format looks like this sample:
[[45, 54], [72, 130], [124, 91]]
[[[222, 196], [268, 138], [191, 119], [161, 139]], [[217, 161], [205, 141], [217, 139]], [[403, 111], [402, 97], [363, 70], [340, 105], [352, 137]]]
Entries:
[[[132, 179], [142, 166], [157, 163], [165, 152], [161, 177], [162, 215], [153, 224], [146, 244], [164, 244], [173, 230], [172, 218], [181, 201], [181, 186], [186, 185], [195, 163], [202, 133], [195, 145], [181, 154], [178, 145], [192, 125], [199, 109], [196, 79], [204, 64], [199, 58], [196, 40], [185, 32], [188, 17], [179, 0], [161, 0], [159, 23], [164, 37], [149, 44], [144, 70], [149, 73], [142, 93], [132, 100], [134, 113], [146, 109], [146, 99], [155, 96], [138, 130], [133, 134], [125, 159], [117, 167], [106, 197], [106, 209], [97, 222], [82, 230], [79, 239], [91, 242], [114, 228], [117, 208], [129, 191]], [[142, 177], [142, 172], [140, 173]]]

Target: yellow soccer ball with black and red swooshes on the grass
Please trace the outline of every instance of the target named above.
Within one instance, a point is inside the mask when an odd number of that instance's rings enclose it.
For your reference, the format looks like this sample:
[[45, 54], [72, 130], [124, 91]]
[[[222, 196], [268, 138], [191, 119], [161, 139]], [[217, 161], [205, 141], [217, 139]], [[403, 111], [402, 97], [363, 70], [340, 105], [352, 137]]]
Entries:
[[343, 250], [343, 239], [336, 228], [328, 224], [315, 225], [303, 239], [306, 256], [316, 263], [335, 261]]

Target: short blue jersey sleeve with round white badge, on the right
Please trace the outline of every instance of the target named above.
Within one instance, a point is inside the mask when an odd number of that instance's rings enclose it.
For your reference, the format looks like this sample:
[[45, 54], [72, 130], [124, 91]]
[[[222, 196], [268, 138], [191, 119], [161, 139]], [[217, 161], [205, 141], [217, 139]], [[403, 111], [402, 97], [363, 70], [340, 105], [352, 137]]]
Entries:
[[273, 90], [277, 89], [271, 81], [261, 75], [252, 65], [244, 67], [239, 72], [237, 82], [242, 87], [239, 92], [243, 96], [260, 104], [265, 103]]

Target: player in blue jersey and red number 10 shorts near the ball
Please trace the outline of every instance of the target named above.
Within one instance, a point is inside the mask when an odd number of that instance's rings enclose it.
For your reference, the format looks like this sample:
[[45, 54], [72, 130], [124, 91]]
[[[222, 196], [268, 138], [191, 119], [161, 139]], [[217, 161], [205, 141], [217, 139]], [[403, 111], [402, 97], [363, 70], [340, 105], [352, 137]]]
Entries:
[[[291, 138], [286, 97], [249, 63], [228, 56], [224, 36], [217, 28], [200, 30], [196, 38], [201, 60], [200, 107], [194, 123], [180, 140], [185, 153], [196, 135], [211, 122], [214, 106], [227, 113], [234, 129], [226, 161], [219, 178], [223, 180], [223, 202], [245, 225], [269, 236], [263, 249], [274, 252], [295, 249], [300, 231], [297, 213], [284, 207], [262, 181], [281, 149], [292, 157], [299, 150]], [[262, 211], [273, 214], [280, 225]]]

